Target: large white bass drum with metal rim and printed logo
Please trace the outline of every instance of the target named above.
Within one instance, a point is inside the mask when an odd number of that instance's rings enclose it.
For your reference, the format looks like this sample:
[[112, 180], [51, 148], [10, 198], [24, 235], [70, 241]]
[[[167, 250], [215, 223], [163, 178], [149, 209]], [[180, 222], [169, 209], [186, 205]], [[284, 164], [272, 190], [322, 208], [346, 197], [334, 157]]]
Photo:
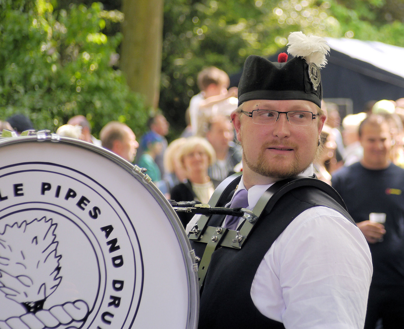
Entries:
[[0, 139], [0, 328], [196, 328], [194, 255], [148, 178], [79, 140]]

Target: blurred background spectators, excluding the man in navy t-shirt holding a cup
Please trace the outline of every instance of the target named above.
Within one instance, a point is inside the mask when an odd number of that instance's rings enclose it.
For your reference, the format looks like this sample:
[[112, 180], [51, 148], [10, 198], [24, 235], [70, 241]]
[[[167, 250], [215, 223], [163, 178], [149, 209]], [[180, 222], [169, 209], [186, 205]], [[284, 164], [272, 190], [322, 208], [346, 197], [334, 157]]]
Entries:
[[[114, 152], [124, 160], [146, 168], [147, 174], [166, 196], [176, 201], [208, 202], [217, 185], [242, 170], [242, 149], [229, 114], [237, 108], [237, 88], [229, 89], [229, 76], [217, 67], [202, 70], [197, 77], [200, 93], [194, 95], [186, 111], [187, 127], [170, 143], [169, 124], [162, 112], [147, 122], [147, 132], [137, 138], [132, 129], [118, 121], [107, 123], [99, 139], [91, 133], [85, 116], [70, 118], [56, 131], [58, 135], [80, 139]], [[341, 118], [339, 106], [322, 102], [327, 112], [320, 147], [313, 163], [316, 176], [331, 184], [332, 174], [362, 158], [358, 129], [371, 113], [383, 116], [391, 134], [391, 162], [404, 168], [404, 98], [371, 101], [357, 114]], [[22, 114], [0, 121], [0, 132], [40, 129]], [[180, 214], [185, 225], [188, 214]]]

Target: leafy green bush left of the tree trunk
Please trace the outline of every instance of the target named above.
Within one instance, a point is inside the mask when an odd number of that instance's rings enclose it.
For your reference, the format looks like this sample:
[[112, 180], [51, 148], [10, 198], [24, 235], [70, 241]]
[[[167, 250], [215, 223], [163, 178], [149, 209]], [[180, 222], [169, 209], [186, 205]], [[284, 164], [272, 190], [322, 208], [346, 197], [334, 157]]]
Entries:
[[54, 131], [83, 114], [93, 133], [119, 120], [136, 134], [147, 110], [114, 65], [121, 34], [106, 36], [117, 11], [72, 4], [56, 12], [48, 0], [3, 0], [0, 9], [0, 119], [29, 116], [37, 129]]

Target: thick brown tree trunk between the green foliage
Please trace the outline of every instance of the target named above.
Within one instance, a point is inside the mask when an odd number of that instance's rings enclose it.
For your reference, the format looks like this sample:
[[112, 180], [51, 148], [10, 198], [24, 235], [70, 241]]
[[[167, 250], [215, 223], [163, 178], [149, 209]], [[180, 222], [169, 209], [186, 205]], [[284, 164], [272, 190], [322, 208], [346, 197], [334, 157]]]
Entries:
[[131, 90], [158, 108], [164, 0], [123, 0], [121, 69]]

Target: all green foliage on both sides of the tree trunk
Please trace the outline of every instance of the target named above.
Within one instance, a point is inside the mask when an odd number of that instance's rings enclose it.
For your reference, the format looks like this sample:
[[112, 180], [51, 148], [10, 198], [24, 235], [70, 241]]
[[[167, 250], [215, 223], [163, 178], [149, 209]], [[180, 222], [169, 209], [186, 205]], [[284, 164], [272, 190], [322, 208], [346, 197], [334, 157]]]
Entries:
[[[105, 11], [92, 0], [0, 0], [0, 119], [23, 112], [55, 129], [84, 114], [96, 134], [109, 120], [143, 133], [146, 110], [114, 64], [123, 1], [102, 0]], [[239, 72], [293, 31], [404, 46], [403, 17], [402, 0], [165, 1], [159, 106], [171, 137], [185, 127], [203, 67]]]

